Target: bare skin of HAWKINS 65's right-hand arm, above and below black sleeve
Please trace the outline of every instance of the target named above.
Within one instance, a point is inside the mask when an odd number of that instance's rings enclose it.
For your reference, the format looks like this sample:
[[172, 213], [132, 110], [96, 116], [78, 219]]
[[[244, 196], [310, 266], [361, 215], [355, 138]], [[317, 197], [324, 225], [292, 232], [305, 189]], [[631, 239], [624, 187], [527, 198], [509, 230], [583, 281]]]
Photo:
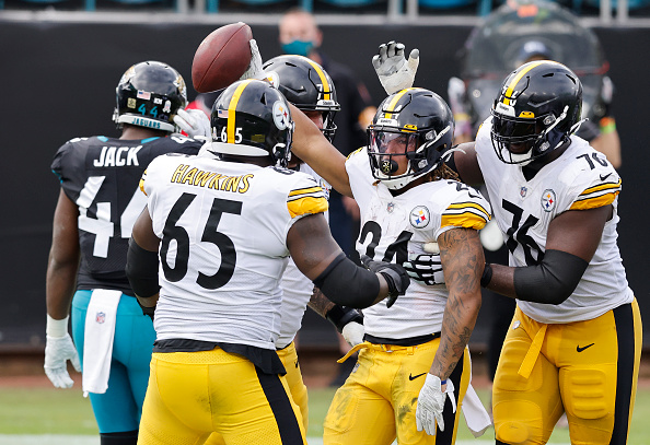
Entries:
[[[315, 280], [341, 253], [332, 237], [327, 221], [322, 213], [298, 220], [287, 234], [287, 247], [298, 269], [310, 280]], [[373, 304], [388, 296], [388, 284], [381, 274], [380, 293]]]

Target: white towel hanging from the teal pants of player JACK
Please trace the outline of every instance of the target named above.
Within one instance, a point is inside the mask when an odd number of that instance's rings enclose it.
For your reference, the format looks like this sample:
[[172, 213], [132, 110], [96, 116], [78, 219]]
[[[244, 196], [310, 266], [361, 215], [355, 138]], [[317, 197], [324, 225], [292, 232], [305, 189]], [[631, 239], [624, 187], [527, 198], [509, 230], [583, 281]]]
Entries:
[[91, 294], [85, 314], [83, 341], [83, 396], [89, 393], [104, 394], [108, 388], [113, 339], [120, 291], [96, 289]]

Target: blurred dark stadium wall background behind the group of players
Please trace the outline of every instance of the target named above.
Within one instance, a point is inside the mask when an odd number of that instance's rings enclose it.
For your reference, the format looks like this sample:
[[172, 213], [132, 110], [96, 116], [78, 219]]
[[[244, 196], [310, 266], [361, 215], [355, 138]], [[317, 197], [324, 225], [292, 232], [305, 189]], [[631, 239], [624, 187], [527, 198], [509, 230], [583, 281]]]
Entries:
[[[205, 36], [246, 22], [267, 60], [281, 54], [278, 22], [294, 7], [313, 12], [323, 32], [321, 50], [349, 67], [374, 106], [385, 94], [370, 60], [391, 39], [404, 43], [407, 54], [420, 49], [417, 86], [446, 98], [449, 79], [459, 77], [477, 115], [489, 109], [514, 68], [514, 48], [531, 34], [543, 32], [556, 59], [583, 78], [594, 119], [607, 75], [615, 85], [623, 157], [619, 246], [650, 320], [650, 0], [567, 0], [534, 11], [500, 0], [0, 0], [0, 373], [43, 373], [45, 271], [59, 192], [50, 172], [56, 150], [73, 137], [116, 134], [115, 86], [130, 65], [170, 63], [185, 78], [191, 101], [191, 60]], [[484, 304], [472, 338], [477, 370], [495, 311]], [[336, 331], [311, 311], [298, 344], [303, 362], [340, 353]], [[336, 373], [333, 363], [303, 367], [306, 380], [325, 373], [327, 382]]]

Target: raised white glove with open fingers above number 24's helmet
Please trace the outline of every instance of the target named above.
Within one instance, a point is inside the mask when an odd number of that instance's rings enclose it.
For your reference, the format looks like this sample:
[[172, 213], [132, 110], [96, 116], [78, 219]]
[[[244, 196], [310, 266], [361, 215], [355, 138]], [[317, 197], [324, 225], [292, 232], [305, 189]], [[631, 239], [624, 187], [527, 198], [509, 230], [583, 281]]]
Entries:
[[380, 45], [379, 54], [372, 58], [374, 71], [388, 94], [411, 87], [419, 63], [419, 49], [411, 50], [407, 61], [404, 44], [394, 40]]

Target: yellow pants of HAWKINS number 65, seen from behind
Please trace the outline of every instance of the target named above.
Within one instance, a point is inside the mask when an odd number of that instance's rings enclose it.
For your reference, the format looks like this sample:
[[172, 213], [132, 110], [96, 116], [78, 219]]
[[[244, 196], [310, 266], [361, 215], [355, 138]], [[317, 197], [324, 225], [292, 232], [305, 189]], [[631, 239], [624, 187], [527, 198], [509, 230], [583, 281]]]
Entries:
[[262, 373], [239, 354], [154, 353], [138, 445], [304, 444], [300, 409], [283, 376]]

